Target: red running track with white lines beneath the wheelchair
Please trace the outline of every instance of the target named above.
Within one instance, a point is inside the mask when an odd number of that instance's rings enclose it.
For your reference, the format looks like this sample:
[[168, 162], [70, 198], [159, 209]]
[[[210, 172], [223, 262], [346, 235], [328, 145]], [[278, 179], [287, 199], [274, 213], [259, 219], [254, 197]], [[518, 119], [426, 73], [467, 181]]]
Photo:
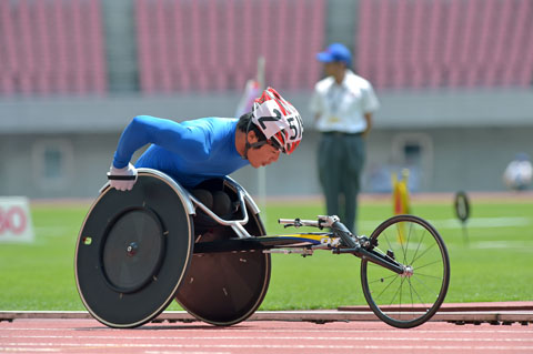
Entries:
[[248, 321], [231, 327], [201, 322], [150, 323], [113, 330], [93, 320], [0, 322], [0, 353], [533, 353], [531, 325], [429, 322], [411, 330], [381, 322]]

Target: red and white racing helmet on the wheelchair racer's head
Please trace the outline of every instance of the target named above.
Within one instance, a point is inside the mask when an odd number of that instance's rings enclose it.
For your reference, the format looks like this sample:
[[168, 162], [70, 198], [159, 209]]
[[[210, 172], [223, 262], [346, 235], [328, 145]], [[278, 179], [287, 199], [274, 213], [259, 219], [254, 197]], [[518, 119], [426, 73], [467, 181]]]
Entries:
[[272, 88], [264, 90], [253, 102], [252, 122], [286, 154], [292, 153], [302, 140], [300, 113]]

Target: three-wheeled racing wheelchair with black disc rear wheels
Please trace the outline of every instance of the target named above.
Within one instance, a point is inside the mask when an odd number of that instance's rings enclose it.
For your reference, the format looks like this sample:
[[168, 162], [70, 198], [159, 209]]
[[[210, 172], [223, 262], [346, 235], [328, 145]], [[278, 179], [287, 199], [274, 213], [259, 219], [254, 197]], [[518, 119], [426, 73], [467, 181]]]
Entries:
[[444, 301], [449, 255], [426, 221], [396, 215], [370, 236], [358, 236], [334, 215], [281, 219], [285, 227], [319, 231], [266, 235], [244, 189], [230, 178], [215, 182], [212, 188], [233, 201], [230, 218], [220, 218], [173, 179], [151, 169], [138, 170], [129, 192], [109, 183], [100, 190], [81, 226], [74, 260], [78, 292], [95, 320], [135, 327], [175, 300], [200, 321], [233, 325], [261, 305], [271, 253], [310, 255], [319, 250], [361, 259], [365, 300], [392, 326], [421, 325]]

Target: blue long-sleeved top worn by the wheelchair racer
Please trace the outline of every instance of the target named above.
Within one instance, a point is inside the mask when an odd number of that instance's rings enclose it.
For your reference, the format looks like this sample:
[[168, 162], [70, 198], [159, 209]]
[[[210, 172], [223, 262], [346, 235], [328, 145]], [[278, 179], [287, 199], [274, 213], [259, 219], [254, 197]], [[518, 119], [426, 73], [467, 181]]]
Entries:
[[201, 118], [181, 123], [150, 115], [135, 117], [124, 129], [113, 165], [124, 168], [133, 153], [151, 144], [135, 168], [150, 168], [193, 188], [210, 178], [248, 165], [235, 149], [237, 119]]

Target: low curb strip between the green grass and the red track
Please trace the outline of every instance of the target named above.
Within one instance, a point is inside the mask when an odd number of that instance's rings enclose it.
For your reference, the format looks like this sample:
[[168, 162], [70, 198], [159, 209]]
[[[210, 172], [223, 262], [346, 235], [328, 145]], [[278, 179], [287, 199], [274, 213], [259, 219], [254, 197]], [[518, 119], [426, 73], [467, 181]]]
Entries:
[[[415, 312], [420, 309], [413, 309]], [[87, 311], [0, 311], [1, 321], [21, 318], [49, 320], [90, 320]], [[167, 311], [153, 322], [195, 322], [185, 311]], [[314, 323], [380, 321], [368, 306], [343, 306], [339, 310], [311, 311], [257, 311], [248, 321], [305, 321]], [[430, 320], [432, 322], [451, 322], [455, 324], [513, 324], [533, 323], [533, 302], [510, 303], [463, 303], [443, 304]]]

